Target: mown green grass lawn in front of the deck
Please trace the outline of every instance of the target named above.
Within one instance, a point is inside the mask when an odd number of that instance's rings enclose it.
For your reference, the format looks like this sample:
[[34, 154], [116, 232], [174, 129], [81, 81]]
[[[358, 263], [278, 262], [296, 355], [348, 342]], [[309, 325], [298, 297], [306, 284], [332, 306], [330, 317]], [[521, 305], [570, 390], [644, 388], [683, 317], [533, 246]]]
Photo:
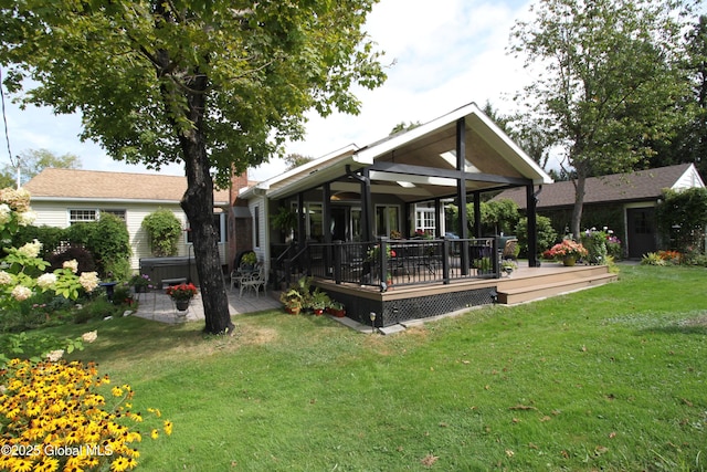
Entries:
[[157, 407], [171, 438], [141, 470], [705, 470], [707, 271], [622, 266], [620, 281], [493, 306], [393, 336], [326, 317], [52, 328]]

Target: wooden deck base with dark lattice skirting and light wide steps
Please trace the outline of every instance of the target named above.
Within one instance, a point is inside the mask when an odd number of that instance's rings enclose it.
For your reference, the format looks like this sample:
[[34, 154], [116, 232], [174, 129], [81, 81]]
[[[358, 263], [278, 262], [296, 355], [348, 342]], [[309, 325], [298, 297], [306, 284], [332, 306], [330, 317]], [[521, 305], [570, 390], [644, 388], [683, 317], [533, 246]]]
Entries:
[[376, 326], [384, 327], [410, 319], [439, 316], [472, 306], [499, 303], [517, 304], [546, 298], [577, 290], [599, 286], [616, 280], [605, 265], [566, 268], [544, 263], [541, 268], [520, 266], [510, 276], [472, 279], [450, 284], [414, 286], [393, 285], [386, 292], [371, 286], [335, 284], [315, 280], [315, 285], [347, 306], [347, 316], [370, 325], [370, 313], [377, 314]]

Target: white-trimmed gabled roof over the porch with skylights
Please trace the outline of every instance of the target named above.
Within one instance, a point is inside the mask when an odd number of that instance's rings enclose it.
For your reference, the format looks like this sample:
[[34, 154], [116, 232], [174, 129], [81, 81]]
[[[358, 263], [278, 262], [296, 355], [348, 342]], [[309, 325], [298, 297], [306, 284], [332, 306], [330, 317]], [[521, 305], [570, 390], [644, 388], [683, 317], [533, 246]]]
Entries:
[[[458, 133], [463, 123], [463, 133]], [[463, 136], [463, 143], [458, 143]], [[552, 179], [475, 104], [422, 126], [359, 148], [350, 145], [281, 176], [244, 189], [241, 198], [264, 195], [282, 199], [329, 182], [331, 195], [358, 192], [347, 176], [368, 168], [372, 193], [395, 195], [407, 202], [454, 197], [456, 153], [463, 145], [466, 191], [551, 183]]]

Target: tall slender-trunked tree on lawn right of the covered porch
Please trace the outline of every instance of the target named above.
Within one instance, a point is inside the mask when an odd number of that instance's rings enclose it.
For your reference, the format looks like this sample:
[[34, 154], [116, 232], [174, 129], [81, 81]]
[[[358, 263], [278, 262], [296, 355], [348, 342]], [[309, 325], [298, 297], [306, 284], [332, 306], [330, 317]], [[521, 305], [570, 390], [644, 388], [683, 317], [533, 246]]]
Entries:
[[553, 136], [576, 198], [580, 232], [587, 177], [632, 169], [675, 130], [684, 96], [680, 0], [548, 0], [519, 21], [511, 49], [542, 73], [519, 95]]

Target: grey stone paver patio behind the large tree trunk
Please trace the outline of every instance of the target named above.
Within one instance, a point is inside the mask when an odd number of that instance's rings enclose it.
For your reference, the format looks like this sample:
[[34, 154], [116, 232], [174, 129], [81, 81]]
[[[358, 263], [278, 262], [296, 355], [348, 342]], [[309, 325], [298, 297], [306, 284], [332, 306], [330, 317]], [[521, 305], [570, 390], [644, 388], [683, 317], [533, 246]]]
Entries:
[[[258, 297], [251, 292], [243, 294], [239, 298], [236, 291], [226, 291], [229, 293], [229, 311], [231, 315], [242, 313], [262, 312], [264, 310], [282, 308], [282, 303], [273, 298], [273, 294], [267, 292], [261, 293]], [[162, 323], [182, 323], [184, 321], [193, 322], [204, 319], [203, 305], [201, 303], [201, 294], [191, 300], [186, 316], [180, 316], [172, 300], [163, 292], [140, 293], [138, 297], [138, 310], [135, 316], [147, 319], [154, 319]]]

